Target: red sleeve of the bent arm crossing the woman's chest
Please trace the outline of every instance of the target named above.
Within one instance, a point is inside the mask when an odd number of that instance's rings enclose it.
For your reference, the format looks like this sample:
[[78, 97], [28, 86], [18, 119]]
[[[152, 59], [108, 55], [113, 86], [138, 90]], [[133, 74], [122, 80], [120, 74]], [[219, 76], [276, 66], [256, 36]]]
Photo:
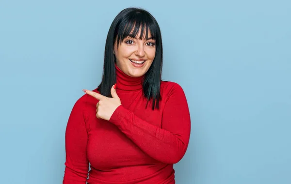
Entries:
[[122, 105], [116, 108], [109, 121], [141, 150], [160, 162], [177, 163], [187, 150], [191, 120], [186, 96], [178, 84], [172, 88], [165, 102], [162, 128], [147, 123]]

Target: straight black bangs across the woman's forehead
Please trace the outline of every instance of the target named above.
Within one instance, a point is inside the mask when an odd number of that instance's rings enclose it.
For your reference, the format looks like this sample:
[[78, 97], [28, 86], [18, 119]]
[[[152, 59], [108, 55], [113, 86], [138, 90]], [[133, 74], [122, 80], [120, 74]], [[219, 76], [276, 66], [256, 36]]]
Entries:
[[[157, 38], [159, 35], [157, 25], [154, 20], [150, 15], [141, 13], [130, 14], [122, 19], [115, 33], [114, 38], [117, 39], [117, 47], [127, 37], [141, 40], [159, 40]], [[137, 37], [139, 33], [140, 35]]]

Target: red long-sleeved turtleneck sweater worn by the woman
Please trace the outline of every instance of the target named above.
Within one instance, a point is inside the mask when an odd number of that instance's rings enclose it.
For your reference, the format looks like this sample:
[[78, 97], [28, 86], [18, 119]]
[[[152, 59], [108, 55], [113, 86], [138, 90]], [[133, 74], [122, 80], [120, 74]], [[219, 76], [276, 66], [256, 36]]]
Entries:
[[145, 108], [142, 77], [115, 68], [122, 105], [109, 121], [97, 119], [98, 100], [88, 94], [71, 111], [63, 184], [175, 184], [173, 164], [186, 152], [191, 126], [182, 88], [162, 82], [160, 109]]

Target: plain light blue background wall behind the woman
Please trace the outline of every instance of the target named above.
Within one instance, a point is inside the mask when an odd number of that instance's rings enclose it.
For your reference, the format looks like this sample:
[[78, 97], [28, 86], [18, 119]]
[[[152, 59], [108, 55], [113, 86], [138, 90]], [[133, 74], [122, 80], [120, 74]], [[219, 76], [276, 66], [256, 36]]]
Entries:
[[129, 6], [158, 20], [163, 79], [189, 102], [177, 184], [291, 184], [289, 0], [1, 0], [0, 183], [61, 184], [67, 118]]

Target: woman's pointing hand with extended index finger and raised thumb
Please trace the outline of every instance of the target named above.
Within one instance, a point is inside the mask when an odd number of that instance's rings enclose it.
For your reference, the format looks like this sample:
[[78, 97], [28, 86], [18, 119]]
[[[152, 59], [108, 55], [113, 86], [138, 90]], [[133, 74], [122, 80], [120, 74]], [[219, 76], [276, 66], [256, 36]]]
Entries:
[[114, 88], [115, 85], [113, 85], [111, 88], [112, 98], [103, 96], [97, 92], [92, 92], [90, 90], [83, 90], [83, 92], [99, 100], [99, 102], [96, 105], [97, 118], [109, 121], [115, 109], [121, 105], [120, 98], [118, 97], [116, 90]]

